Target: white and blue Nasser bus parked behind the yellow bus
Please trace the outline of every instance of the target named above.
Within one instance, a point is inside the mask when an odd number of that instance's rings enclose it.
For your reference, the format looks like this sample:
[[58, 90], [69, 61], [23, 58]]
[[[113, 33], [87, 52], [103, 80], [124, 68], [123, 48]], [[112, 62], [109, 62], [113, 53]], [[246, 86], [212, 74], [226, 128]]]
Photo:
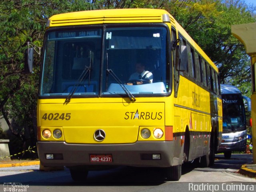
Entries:
[[246, 110], [251, 111], [251, 100], [238, 88], [232, 85], [220, 84], [222, 97], [223, 132], [222, 143], [218, 152], [224, 152], [225, 158], [230, 158], [232, 151], [245, 151], [247, 130]]

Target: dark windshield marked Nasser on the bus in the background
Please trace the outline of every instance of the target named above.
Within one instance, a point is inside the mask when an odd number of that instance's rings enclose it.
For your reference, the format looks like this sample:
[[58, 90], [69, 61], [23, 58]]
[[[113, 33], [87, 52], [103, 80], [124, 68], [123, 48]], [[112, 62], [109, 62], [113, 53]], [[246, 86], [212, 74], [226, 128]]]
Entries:
[[244, 101], [241, 94], [222, 94], [223, 130], [246, 129]]

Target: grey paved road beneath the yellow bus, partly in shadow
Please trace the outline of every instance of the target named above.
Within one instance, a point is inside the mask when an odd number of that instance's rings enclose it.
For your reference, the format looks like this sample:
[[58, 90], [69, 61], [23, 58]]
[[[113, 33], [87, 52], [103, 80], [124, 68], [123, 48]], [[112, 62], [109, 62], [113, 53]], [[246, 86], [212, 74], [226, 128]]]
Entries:
[[[230, 160], [224, 159], [223, 155], [217, 155], [216, 158], [218, 160], [210, 168], [197, 168], [193, 163], [184, 164], [179, 182], [166, 181], [158, 168], [120, 167], [89, 172], [86, 183], [73, 182], [68, 169], [42, 172], [39, 166], [1, 168], [0, 192], [4, 189], [14, 191], [12, 188], [19, 189], [16, 191], [24, 189], [26, 192], [246, 191], [244, 188], [256, 191], [254, 178], [237, 173], [242, 164], [252, 161], [251, 154], [234, 154]], [[200, 190], [200, 187], [204, 187], [204, 190]], [[234, 190], [237, 187], [238, 190]]]

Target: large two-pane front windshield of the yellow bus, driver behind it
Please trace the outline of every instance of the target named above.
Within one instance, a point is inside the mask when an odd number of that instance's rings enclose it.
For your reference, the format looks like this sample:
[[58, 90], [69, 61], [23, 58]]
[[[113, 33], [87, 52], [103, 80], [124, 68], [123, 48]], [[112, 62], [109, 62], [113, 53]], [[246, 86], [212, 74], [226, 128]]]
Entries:
[[125, 88], [136, 96], [166, 94], [167, 34], [163, 26], [50, 30], [40, 96], [120, 96]]

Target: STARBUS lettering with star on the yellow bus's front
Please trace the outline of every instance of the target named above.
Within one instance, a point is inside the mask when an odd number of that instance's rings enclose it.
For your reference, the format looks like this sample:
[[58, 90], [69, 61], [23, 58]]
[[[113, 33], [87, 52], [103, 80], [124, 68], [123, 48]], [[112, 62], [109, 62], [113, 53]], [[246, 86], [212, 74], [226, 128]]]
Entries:
[[126, 112], [124, 119], [161, 120], [162, 112], [139, 112], [137, 109], [136, 112]]

